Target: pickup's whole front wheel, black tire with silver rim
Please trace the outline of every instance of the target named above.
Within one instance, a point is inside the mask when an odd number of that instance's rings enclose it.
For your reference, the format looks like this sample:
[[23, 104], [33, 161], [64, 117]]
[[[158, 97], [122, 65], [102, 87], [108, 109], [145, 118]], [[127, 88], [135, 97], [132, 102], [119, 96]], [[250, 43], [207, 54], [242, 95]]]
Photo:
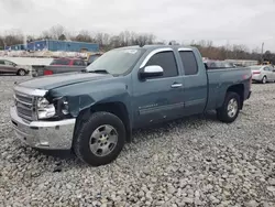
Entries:
[[124, 146], [125, 137], [124, 124], [116, 115], [95, 112], [87, 122], [80, 123], [73, 150], [82, 162], [91, 166], [106, 165], [118, 157]]

